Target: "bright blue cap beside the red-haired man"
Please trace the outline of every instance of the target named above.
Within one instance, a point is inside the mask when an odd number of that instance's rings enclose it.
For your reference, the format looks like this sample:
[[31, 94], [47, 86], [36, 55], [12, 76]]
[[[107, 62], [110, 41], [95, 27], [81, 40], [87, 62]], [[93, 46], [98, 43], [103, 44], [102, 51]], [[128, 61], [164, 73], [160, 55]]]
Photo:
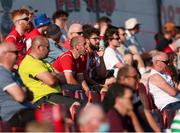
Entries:
[[37, 28], [41, 26], [49, 25], [50, 23], [51, 23], [51, 20], [50, 18], [47, 17], [45, 13], [40, 14], [34, 18], [34, 24]]

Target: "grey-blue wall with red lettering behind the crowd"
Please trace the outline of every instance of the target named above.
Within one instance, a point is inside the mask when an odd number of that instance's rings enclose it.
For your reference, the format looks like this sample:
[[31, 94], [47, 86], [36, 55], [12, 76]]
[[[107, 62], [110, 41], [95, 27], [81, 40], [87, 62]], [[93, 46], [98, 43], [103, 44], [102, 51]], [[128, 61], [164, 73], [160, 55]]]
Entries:
[[[163, 23], [175, 20], [178, 17], [177, 14], [180, 13], [178, 12], [180, 10], [174, 7], [178, 0], [171, 1], [162, 0], [164, 4], [162, 8]], [[169, 7], [168, 5], [171, 3], [173, 6]], [[154, 34], [158, 31], [157, 0], [99, 0], [98, 4], [99, 7], [96, 6], [97, 0], [1, 0], [1, 32], [6, 35], [10, 31], [12, 23], [9, 12], [13, 9], [24, 5], [30, 6], [37, 11], [37, 14], [46, 12], [51, 17], [53, 12], [59, 8], [70, 13], [69, 24], [73, 22], [94, 24], [97, 17], [106, 15], [112, 19], [115, 26], [124, 26], [126, 19], [136, 17], [141, 23], [141, 32], [137, 36], [140, 43], [148, 51], [155, 47]]]

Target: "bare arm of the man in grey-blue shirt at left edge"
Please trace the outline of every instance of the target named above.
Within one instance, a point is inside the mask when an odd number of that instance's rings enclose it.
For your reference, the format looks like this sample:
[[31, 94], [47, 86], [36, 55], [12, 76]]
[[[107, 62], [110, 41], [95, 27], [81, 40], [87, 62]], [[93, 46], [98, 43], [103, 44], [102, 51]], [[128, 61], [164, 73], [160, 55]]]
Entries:
[[23, 102], [25, 100], [25, 92], [17, 84], [14, 84], [6, 89], [6, 91], [17, 101]]

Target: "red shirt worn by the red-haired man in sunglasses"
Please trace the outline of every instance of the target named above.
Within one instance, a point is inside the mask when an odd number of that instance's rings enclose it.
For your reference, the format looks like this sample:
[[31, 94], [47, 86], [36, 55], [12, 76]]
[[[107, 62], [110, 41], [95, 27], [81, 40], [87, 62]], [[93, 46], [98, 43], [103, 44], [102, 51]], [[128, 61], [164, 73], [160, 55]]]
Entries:
[[5, 42], [11, 42], [16, 45], [16, 48], [18, 50], [17, 64], [19, 65], [26, 55], [25, 37], [23, 35], [21, 36], [13, 27], [11, 32], [6, 36]]

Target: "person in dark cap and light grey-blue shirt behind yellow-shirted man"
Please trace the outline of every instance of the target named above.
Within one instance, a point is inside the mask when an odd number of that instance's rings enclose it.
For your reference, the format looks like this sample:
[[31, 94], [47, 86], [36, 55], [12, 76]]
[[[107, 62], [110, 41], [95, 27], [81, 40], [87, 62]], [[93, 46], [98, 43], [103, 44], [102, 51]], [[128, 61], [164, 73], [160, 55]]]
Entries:
[[61, 36], [60, 28], [55, 24], [50, 24], [46, 30], [46, 37], [49, 41], [49, 53], [48, 56], [44, 59], [45, 61], [52, 64], [56, 58], [66, 51], [65, 48], [61, 47], [58, 43]]

